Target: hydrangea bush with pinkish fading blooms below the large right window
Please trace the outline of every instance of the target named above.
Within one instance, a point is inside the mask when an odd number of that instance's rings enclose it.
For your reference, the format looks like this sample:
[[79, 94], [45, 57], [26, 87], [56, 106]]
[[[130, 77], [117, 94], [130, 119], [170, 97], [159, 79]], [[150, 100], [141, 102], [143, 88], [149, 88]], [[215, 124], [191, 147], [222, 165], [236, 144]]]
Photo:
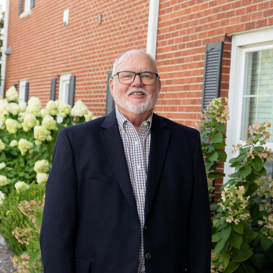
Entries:
[[[201, 129], [203, 156], [208, 181], [224, 176], [215, 169], [226, 161], [223, 148], [224, 124], [229, 120], [227, 99], [210, 102], [196, 124]], [[221, 125], [222, 124], [222, 125]], [[223, 126], [224, 125], [224, 126]], [[266, 147], [269, 122], [258, 121], [248, 128], [249, 136], [233, 146], [229, 163], [234, 167], [230, 180], [221, 187], [221, 198], [211, 204], [212, 255], [211, 272], [269, 273], [273, 268], [273, 185], [264, 164], [272, 161]], [[222, 149], [221, 149], [222, 148]], [[211, 186], [209, 185], [210, 192]]]

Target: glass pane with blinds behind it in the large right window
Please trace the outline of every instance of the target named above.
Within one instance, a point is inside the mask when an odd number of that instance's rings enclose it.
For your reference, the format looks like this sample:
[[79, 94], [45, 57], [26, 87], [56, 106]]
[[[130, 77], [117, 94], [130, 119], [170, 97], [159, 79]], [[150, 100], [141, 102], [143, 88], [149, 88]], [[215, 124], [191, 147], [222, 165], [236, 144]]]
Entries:
[[[259, 123], [273, 119], [273, 49], [246, 53], [243, 96], [243, 131], [258, 120]], [[273, 142], [272, 128], [268, 142]]]

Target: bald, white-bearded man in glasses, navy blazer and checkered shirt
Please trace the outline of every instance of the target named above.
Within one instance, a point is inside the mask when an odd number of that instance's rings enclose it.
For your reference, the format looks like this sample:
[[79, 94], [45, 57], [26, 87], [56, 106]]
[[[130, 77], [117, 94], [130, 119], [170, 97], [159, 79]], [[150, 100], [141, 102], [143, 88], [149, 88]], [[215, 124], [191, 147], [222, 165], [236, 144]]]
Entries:
[[197, 130], [154, 114], [144, 51], [121, 55], [107, 116], [60, 130], [40, 235], [44, 273], [208, 273], [211, 226]]

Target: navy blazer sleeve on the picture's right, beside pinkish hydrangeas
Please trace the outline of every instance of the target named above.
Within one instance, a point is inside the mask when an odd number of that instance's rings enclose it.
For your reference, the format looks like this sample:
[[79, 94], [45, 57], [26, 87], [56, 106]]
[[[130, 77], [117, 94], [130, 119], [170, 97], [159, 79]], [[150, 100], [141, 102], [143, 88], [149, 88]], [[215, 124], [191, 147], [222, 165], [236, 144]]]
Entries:
[[200, 133], [194, 151], [194, 179], [189, 220], [189, 272], [209, 273], [211, 256], [210, 200]]

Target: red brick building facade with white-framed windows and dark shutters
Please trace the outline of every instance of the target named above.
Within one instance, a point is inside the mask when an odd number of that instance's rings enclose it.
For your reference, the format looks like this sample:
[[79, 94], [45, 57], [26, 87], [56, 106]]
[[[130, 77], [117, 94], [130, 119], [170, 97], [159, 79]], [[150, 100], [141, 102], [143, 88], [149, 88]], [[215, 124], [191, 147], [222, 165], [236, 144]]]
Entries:
[[[273, 1], [8, 3], [3, 95], [15, 84], [22, 100], [38, 96], [44, 106], [49, 99], [81, 99], [103, 116], [107, 102], [112, 107], [107, 88], [114, 60], [130, 49], [146, 50], [153, 24], [162, 82], [156, 113], [194, 127], [211, 97], [228, 96], [228, 159], [249, 124], [272, 122]], [[220, 169], [231, 172], [228, 165]], [[222, 183], [215, 180], [216, 191]]]

